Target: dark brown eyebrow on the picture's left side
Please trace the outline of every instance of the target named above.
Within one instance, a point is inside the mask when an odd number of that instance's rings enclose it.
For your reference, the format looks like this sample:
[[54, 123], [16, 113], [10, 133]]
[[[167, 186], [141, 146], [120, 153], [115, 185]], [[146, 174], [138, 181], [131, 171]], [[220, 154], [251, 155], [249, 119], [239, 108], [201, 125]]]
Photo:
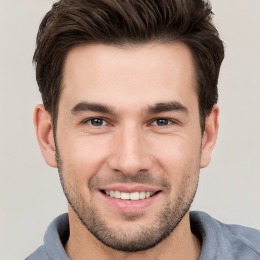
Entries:
[[81, 102], [77, 104], [73, 109], [70, 111], [70, 114], [77, 115], [81, 112], [85, 111], [93, 111], [93, 112], [100, 112], [104, 114], [115, 114], [112, 108], [97, 104], [97, 103], [88, 103], [88, 102]]

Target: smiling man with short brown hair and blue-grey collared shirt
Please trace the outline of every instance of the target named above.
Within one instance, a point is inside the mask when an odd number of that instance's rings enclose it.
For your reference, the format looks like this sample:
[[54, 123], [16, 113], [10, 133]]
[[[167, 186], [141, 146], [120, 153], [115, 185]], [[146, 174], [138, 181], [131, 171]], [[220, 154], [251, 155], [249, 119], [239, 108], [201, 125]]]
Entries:
[[69, 214], [27, 259], [259, 259], [258, 231], [189, 212], [218, 132], [211, 19], [188, 0], [64, 0], [46, 14], [34, 122]]

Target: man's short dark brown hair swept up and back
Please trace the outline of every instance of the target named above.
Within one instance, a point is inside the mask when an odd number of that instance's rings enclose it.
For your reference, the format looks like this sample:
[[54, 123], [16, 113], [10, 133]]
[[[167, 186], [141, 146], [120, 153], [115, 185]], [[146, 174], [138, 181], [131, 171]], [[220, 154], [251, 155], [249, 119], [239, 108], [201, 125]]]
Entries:
[[[64, 60], [81, 44], [183, 43], [196, 66], [202, 132], [217, 103], [223, 43], [203, 0], [61, 0], [43, 18], [34, 54], [45, 109], [56, 126]], [[55, 134], [55, 133], [54, 133]]]

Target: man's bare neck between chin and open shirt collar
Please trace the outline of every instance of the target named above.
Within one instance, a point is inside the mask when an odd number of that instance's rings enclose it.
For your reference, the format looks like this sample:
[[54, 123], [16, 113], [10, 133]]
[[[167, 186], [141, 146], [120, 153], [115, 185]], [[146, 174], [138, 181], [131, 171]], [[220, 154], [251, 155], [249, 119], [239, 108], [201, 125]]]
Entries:
[[191, 233], [189, 212], [182, 218], [176, 229], [154, 248], [139, 252], [114, 250], [96, 239], [81, 223], [69, 207], [70, 238], [64, 246], [71, 260], [81, 259], [185, 259], [197, 260], [201, 252], [199, 239]]

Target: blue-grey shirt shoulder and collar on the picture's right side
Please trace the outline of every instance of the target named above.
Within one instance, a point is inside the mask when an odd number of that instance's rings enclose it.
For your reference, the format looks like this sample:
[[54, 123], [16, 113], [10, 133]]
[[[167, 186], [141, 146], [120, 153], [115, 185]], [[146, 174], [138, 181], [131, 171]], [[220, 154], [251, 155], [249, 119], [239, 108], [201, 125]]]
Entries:
[[201, 211], [190, 212], [190, 222], [192, 232], [202, 238], [204, 253], [223, 259], [260, 259], [260, 231], [224, 224]]

